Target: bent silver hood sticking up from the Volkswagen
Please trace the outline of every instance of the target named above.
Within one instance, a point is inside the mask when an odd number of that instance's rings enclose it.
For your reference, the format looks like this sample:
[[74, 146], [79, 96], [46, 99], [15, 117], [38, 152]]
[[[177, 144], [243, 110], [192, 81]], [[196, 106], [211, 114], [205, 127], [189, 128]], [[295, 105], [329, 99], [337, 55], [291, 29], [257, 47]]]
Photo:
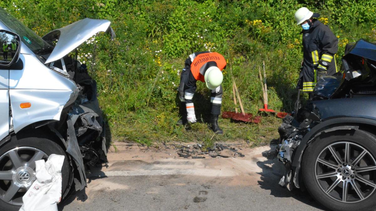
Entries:
[[58, 39], [45, 64], [61, 59], [98, 32], [109, 31], [111, 39], [114, 39], [115, 33], [110, 23], [108, 20], [85, 18], [44, 35], [42, 39], [47, 42]]

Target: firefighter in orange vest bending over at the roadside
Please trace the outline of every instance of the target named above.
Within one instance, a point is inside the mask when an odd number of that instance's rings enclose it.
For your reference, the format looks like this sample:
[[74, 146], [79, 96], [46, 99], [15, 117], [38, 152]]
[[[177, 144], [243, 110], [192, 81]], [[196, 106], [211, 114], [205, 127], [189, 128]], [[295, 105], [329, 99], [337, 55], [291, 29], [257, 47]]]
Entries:
[[223, 130], [218, 126], [218, 116], [221, 114], [223, 93], [221, 71], [224, 68], [226, 68], [226, 60], [221, 54], [215, 52], [193, 53], [185, 60], [178, 88], [181, 101], [180, 115], [182, 115], [178, 124], [185, 125], [187, 122], [196, 122], [192, 98], [197, 88], [196, 81], [202, 81], [211, 90], [210, 128], [217, 134], [223, 134]]

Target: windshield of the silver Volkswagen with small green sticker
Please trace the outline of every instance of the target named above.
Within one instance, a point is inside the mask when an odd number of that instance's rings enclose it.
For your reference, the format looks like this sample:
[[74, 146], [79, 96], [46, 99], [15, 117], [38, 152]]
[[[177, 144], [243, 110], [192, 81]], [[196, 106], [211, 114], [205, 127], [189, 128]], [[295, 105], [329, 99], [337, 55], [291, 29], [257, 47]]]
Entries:
[[18, 34], [21, 41], [27, 45], [35, 54], [42, 50], [52, 48], [50, 44], [45, 42], [40, 36], [36, 35], [32, 30], [27, 28], [21, 21], [8, 14], [3, 8], [0, 8], [0, 21], [3, 22], [12, 32]]

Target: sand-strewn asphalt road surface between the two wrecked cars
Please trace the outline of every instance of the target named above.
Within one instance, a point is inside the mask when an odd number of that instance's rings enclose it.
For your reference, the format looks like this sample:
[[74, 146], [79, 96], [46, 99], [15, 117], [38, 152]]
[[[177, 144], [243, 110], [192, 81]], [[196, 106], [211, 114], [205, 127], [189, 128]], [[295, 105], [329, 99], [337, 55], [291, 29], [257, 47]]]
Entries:
[[[120, 147], [119, 147], [120, 146]], [[109, 153], [109, 168], [92, 172], [88, 187], [59, 210], [321, 210], [307, 193], [278, 185], [284, 172], [262, 152], [246, 157], [178, 158], [173, 150], [132, 145]]]

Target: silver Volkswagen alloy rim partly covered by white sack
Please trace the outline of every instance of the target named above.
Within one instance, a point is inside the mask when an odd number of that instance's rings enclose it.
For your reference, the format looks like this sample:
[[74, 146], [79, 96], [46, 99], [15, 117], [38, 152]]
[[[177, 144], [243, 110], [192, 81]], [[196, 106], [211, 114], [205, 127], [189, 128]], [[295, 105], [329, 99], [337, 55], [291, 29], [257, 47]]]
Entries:
[[22, 205], [22, 196], [36, 180], [35, 161], [47, 160], [45, 152], [33, 147], [18, 147], [0, 157], [0, 199]]

